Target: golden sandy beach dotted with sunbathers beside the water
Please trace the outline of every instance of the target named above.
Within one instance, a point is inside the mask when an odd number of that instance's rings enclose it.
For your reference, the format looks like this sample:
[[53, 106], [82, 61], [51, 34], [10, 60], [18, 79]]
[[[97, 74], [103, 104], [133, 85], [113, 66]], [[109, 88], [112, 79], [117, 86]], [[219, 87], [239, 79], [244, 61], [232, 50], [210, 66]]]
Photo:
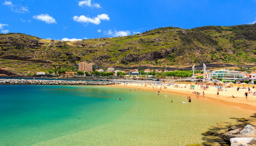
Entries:
[[[176, 87], [176, 86], [178, 87]], [[109, 85], [113, 86], [113, 85]], [[114, 85], [116, 86], [116, 85]], [[167, 89], [164, 89], [164, 86], [167, 87]], [[170, 86], [166, 85], [148, 85], [145, 87], [145, 83], [128, 83], [127, 85], [125, 83], [122, 83], [121, 85], [117, 85], [116, 87], [122, 87], [122, 88], [136, 88], [141, 89], [142, 92], [146, 92], [146, 90], [153, 90], [158, 94], [158, 90], [160, 90], [161, 95], [168, 95], [168, 93], [171, 94], [178, 94], [178, 95], [184, 95], [184, 98], [190, 96], [192, 99], [192, 102], [195, 100], [209, 100], [213, 102], [218, 102], [220, 104], [224, 104], [227, 106], [233, 106], [236, 108], [242, 108], [242, 109], [248, 109], [249, 112], [255, 113], [256, 112], [256, 96], [253, 96], [253, 94], [248, 94], [247, 99], [245, 98], [245, 92], [248, 92], [248, 86], [245, 85], [245, 89], [243, 88], [243, 85], [240, 86], [239, 91], [237, 91], [237, 87], [239, 86], [234, 85], [231, 88], [222, 88], [223, 91], [218, 91], [215, 86], [210, 86], [209, 89], [203, 90], [200, 88], [200, 85], [195, 85], [194, 89], [190, 89], [190, 84], [187, 84], [187, 87], [184, 88], [186, 84], [174, 84]], [[252, 89], [252, 85], [250, 85], [251, 91], [256, 92], [256, 89]], [[154, 87], [154, 89], [153, 89]], [[182, 88], [181, 88], [182, 87]], [[205, 96], [203, 98], [203, 91], [205, 93]], [[219, 92], [219, 96], [217, 97], [217, 91]], [[199, 92], [200, 97], [196, 98], [196, 95], [192, 94], [192, 92]], [[232, 95], [235, 98], [232, 98]]]

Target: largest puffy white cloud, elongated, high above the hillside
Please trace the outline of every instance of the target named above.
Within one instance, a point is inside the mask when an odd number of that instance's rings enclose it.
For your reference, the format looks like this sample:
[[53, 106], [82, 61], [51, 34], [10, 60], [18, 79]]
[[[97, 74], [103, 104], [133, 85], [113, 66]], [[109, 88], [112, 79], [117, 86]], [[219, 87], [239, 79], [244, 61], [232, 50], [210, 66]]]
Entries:
[[80, 23], [93, 23], [95, 25], [99, 25], [101, 23], [100, 20], [109, 20], [109, 17], [107, 14], [101, 14], [101, 15], [98, 15], [97, 17], [95, 18], [90, 18], [90, 17], [86, 17], [84, 15], [81, 15], [81, 16], [74, 16], [73, 17], [73, 20], [76, 21], [76, 22], [80, 22]]

